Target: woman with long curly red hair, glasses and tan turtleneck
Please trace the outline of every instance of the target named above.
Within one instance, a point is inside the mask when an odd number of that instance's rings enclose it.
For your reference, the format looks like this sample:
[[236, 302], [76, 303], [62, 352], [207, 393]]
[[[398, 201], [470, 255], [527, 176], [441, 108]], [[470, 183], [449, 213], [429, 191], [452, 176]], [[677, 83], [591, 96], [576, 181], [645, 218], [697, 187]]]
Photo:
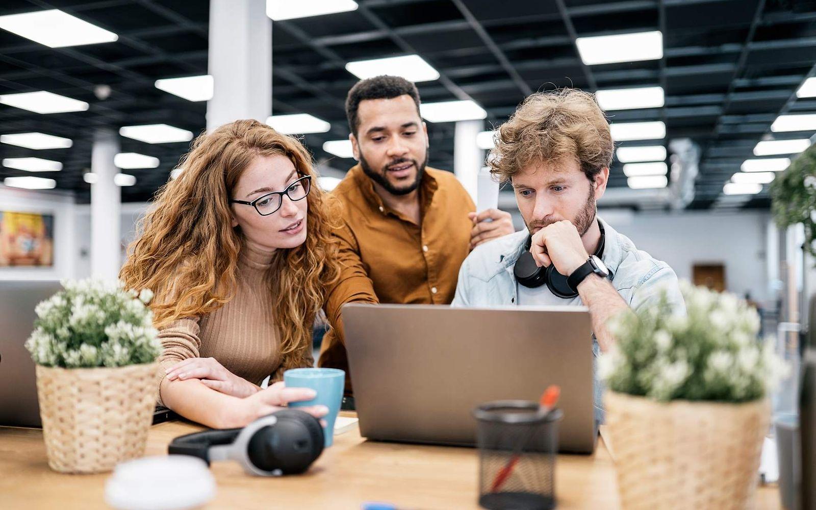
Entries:
[[211, 427], [242, 427], [313, 397], [259, 384], [313, 365], [314, 317], [339, 273], [330, 197], [298, 140], [252, 120], [199, 136], [180, 168], [141, 221], [120, 279], [155, 291], [159, 401]]

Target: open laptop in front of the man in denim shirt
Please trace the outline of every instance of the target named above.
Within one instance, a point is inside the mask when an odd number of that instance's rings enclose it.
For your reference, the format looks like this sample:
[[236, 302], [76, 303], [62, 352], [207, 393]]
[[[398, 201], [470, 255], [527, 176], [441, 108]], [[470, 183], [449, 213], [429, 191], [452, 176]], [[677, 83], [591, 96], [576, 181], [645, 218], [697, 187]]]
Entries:
[[560, 450], [594, 450], [587, 308], [348, 304], [343, 322], [362, 436], [472, 446], [473, 408], [558, 384]]

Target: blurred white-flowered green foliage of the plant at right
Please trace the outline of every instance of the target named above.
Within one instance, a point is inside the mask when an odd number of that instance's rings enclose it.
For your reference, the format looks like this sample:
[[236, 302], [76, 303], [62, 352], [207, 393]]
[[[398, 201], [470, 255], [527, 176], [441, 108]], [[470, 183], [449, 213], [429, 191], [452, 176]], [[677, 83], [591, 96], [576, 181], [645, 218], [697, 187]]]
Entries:
[[685, 315], [659, 304], [610, 320], [615, 344], [601, 357], [608, 388], [657, 401], [745, 402], [765, 397], [785, 372], [757, 339], [756, 310], [734, 295], [681, 285]]

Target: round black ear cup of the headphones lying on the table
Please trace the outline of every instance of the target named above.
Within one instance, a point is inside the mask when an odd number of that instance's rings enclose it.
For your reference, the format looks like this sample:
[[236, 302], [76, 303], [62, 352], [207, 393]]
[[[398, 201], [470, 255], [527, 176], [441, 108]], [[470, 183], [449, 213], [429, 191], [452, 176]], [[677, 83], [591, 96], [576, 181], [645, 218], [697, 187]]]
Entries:
[[295, 409], [273, 415], [277, 422], [255, 432], [247, 446], [251, 463], [268, 472], [279, 469], [285, 475], [305, 472], [323, 452], [320, 421]]

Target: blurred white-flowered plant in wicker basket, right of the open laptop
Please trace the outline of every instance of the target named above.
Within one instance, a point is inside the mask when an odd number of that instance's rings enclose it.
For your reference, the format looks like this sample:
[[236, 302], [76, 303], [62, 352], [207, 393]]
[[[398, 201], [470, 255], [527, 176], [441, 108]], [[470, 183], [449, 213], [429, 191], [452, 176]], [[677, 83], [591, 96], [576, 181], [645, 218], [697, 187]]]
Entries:
[[665, 296], [610, 321], [601, 357], [606, 424], [623, 508], [750, 508], [783, 374], [759, 316], [734, 295], [682, 284], [686, 314]]

